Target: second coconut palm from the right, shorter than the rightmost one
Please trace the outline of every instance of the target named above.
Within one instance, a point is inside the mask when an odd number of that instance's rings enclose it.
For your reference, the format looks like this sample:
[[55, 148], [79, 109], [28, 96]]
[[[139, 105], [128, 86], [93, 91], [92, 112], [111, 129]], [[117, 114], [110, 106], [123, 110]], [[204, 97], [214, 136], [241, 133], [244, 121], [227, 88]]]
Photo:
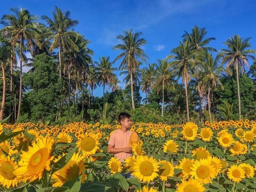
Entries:
[[217, 85], [221, 86], [221, 89], [224, 90], [224, 87], [220, 80], [221, 74], [231, 74], [231, 71], [229, 69], [223, 68], [222, 65], [219, 65], [219, 57], [214, 58], [212, 56], [212, 53], [205, 52], [198, 57], [198, 60], [202, 64], [202, 71], [194, 74], [194, 76], [199, 77], [199, 83], [197, 86], [205, 85], [206, 87], [208, 87], [208, 111], [211, 122], [212, 119], [210, 91], [212, 90], [213, 94], [213, 91], [215, 90]]

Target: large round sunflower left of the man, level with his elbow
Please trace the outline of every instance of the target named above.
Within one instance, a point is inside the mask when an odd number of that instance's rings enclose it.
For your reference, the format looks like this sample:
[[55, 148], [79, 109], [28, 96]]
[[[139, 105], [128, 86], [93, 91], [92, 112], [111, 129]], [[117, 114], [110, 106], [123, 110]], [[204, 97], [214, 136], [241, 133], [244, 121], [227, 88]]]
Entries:
[[93, 133], [85, 133], [80, 135], [76, 143], [78, 148], [82, 150], [84, 157], [94, 155], [99, 148], [97, 136]]

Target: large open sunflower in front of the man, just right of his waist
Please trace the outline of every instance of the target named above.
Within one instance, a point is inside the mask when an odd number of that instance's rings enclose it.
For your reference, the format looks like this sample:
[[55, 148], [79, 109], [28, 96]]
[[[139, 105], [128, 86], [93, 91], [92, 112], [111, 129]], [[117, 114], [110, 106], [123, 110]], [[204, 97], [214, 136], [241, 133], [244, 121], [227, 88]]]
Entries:
[[151, 182], [158, 176], [159, 164], [153, 157], [139, 156], [134, 162], [132, 175], [143, 182]]

